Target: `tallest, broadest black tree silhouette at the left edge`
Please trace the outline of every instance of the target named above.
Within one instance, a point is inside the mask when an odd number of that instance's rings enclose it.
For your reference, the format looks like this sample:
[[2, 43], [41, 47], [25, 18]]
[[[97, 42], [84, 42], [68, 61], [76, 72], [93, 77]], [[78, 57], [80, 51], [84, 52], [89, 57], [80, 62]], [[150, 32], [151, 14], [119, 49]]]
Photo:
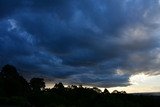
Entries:
[[30, 92], [29, 84], [12, 65], [2, 68], [0, 78], [2, 90], [6, 95], [27, 95]]

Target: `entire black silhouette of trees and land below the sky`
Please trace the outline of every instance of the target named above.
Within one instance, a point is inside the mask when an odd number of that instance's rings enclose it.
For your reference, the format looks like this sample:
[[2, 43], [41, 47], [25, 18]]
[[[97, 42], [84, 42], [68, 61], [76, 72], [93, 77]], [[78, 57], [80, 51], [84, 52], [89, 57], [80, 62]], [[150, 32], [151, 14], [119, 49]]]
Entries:
[[64, 87], [62, 83], [45, 89], [44, 79], [32, 78], [28, 83], [11, 65], [0, 72], [0, 107], [159, 107], [159, 101], [159, 96], [101, 92], [97, 87]]

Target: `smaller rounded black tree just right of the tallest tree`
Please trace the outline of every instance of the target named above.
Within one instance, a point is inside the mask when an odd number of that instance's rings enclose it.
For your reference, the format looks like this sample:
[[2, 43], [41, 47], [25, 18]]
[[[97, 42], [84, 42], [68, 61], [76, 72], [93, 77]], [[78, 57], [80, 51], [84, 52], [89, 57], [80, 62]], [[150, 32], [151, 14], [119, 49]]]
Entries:
[[34, 92], [39, 92], [45, 89], [44, 79], [43, 78], [32, 78], [30, 80], [30, 86]]

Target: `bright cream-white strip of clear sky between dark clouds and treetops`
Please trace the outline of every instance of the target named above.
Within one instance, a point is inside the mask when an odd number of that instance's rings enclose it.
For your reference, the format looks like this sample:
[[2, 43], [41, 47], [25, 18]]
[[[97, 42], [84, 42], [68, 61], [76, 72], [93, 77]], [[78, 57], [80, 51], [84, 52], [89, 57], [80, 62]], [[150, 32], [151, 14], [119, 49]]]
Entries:
[[[143, 92], [160, 92], [160, 75], [146, 75], [144, 73], [139, 73], [136, 75], [132, 75], [129, 78], [130, 84], [129, 86], [124, 87], [111, 87], [107, 88], [109, 92], [113, 92], [114, 90], [118, 91], [126, 91], [127, 93], [143, 93]], [[68, 85], [64, 85], [67, 87]], [[53, 88], [54, 83], [49, 82], [46, 83], [46, 88]], [[83, 86], [83, 87], [92, 87], [92, 86]], [[102, 91], [105, 89], [104, 87], [98, 87]]]

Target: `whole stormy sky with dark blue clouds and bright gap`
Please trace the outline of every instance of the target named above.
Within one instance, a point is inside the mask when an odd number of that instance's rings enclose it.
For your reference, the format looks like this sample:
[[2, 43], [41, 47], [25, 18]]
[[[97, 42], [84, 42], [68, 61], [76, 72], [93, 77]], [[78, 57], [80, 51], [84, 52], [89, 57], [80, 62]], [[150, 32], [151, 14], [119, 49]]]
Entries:
[[0, 67], [25, 78], [160, 91], [159, 0], [0, 0]]

